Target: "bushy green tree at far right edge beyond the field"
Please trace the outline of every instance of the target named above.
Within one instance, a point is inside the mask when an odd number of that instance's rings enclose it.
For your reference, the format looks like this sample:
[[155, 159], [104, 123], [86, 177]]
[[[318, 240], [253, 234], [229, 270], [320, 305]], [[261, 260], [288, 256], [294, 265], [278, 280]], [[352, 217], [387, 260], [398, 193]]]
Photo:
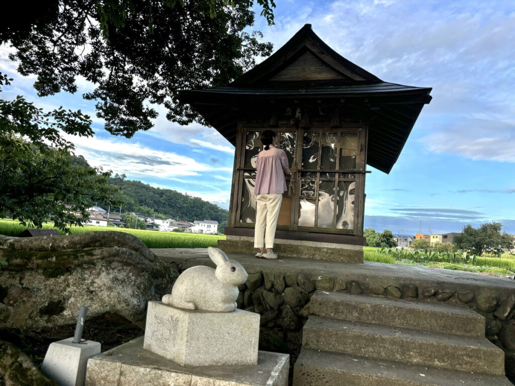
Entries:
[[502, 232], [503, 224], [491, 222], [481, 224], [477, 229], [468, 224], [462, 233], [454, 236], [456, 248], [470, 251], [478, 256], [483, 252], [501, 255], [515, 247], [513, 236]]

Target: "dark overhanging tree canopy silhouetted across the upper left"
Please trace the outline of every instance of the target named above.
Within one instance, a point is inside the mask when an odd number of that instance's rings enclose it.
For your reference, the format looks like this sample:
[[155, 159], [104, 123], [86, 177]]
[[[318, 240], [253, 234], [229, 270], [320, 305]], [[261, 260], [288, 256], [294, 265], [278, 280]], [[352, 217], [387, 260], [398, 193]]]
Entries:
[[[273, 0], [256, 2], [273, 24]], [[261, 32], [249, 31], [253, 0], [40, 3], [38, 14], [10, 2], [0, 42], [16, 49], [10, 58], [20, 74], [37, 76], [39, 96], [75, 93], [79, 76], [92, 82], [96, 88], [84, 98], [97, 102], [97, 116], [115, 135], [150, 129], [158, 115], [150, 103], [180, 124], [203, 122], [178, 91], [227, 84], [272, 49]]]

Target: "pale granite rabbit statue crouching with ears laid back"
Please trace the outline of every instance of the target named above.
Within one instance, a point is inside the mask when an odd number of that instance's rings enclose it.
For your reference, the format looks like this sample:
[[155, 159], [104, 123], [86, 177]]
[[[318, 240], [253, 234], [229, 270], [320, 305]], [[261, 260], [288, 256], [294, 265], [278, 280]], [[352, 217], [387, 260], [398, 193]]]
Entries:
[[229, 260], [218, 248], [208, 248], [216, 269], [196, 266], [185, 270], [176, 280], [171, 294], [163, 303], [191, 310], [231, 312], [236, 309], [238, 286], [247, 280], [247, 272], [234, 260]]

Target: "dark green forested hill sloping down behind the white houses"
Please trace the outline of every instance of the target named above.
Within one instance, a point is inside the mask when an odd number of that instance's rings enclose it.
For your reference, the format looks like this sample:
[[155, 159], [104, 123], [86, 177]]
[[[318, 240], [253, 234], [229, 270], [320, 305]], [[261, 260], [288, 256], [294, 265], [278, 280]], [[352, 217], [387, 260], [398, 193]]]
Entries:
[[[123, 212], [140, 212], [144, 216], [179, 219], [179, 221], [227, 221], [228, 210], [198, 197], [186, 196], [176, 190], [155, 188], [141, 181], [126, 180], [115, 174], [111, 184], [122, 188]], [[164, 216], [162, 216], [164, 215]]]

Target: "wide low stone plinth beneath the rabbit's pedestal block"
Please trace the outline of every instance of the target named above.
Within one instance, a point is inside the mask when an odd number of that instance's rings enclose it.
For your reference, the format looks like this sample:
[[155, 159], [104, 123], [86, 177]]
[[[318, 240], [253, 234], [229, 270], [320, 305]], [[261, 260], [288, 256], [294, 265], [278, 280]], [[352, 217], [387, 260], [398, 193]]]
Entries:
[[[260, 351], [252, 366], [181, 366], [134, 339], [88, 361], [86, 386], [286, 386], [289, 356]], [[220, 352], [220, 355], [224, 353]]]

